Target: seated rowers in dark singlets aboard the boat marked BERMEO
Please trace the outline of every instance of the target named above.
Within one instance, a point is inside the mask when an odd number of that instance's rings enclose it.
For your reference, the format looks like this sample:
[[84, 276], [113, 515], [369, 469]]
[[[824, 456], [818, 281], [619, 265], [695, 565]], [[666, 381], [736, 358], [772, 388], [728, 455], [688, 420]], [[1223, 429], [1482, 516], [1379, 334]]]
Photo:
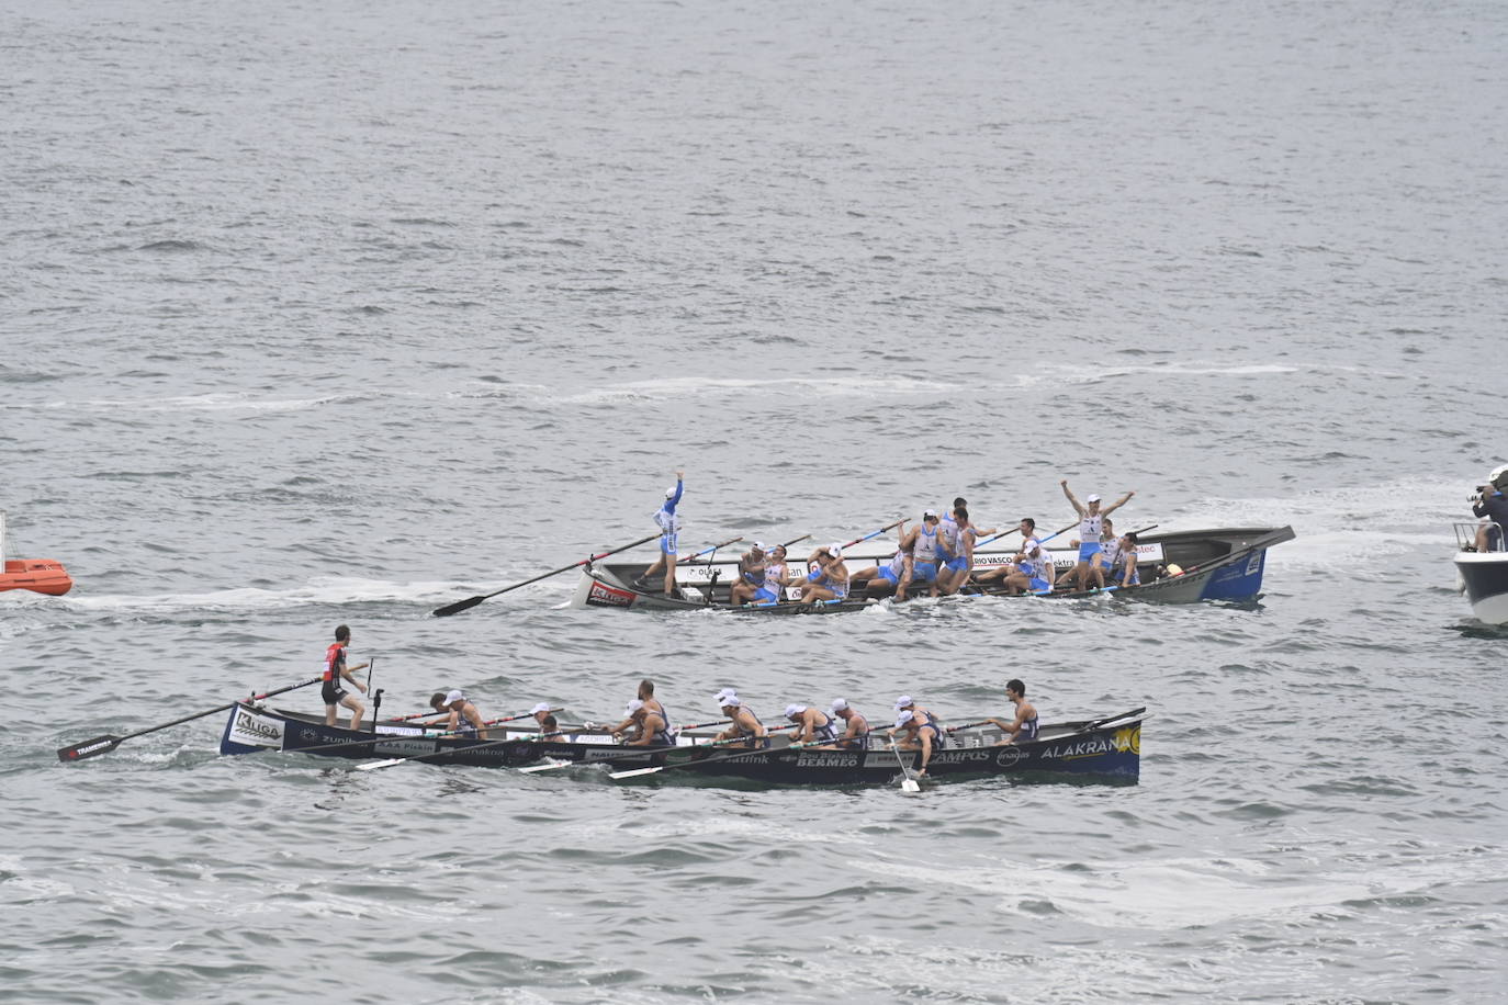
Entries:
[[[552, 708], [549, 702], [537, 704], [528, 716], [517, 716], [516, 719], [532, 717], [538, 723], [537, 740], [549, 740], [559, 737], [566, 732], [609, 732], [617, 743], [623, 746], [650, 747], [650, 746], [676, 746], [676, 735], [679, 729], [671, 725], [670, 713], [665, 711], [665, 705], [654, 698], [654, 681], [642, 680], [636, 692], [636, 698], [629, 701], [624, 707], [623, 720], [617, 723], [582, 723], [579, 729], [559, 728], [559, 722], [555, 719], [555, 713], [559, 708]], [[1012, 680], [1006, 684], [1006, 698], [1015, 705], [1015, 717], [1006, 719], [983, 719], [970, 726], [959, 726], [959, 729], [976, 728], [992, 725], [1001, 731], [1003, 740], [997, 746], [1004, 746], [1010, 743], [1030, 743], [1038, 738], [1038, 711], [1025, 699], [1027, 689], [1019, 680]], [[790, 704], [786, 705], [786, 720], [790, 723], [787, 726], [777, 726], [775, 729], [768, 729], [760, 720], [754, 710], [743, 704], [739, 693], [731, 687], [724, 687], [713, 698], [712, 702], [722, 713], [724, 720], [713, 723], [700, 723], [701, 726], [727, 726], [722, 732], [712, 738], [712, 743], [728, 747], [731, 750], [757, 750], [771, 746], [771, 735], [775, 731], [784, 732], [793, 729], [790, 735], [790, 746], [810, 747], [814, 750], [869, 750], [870, 740], [875, 737], [876, 729], [869, 723], [869, 719], [860, 713], [854, 705], [844, 698], [834, 698], [828, 705], [828, 711], [822, 711], [814, 705]], [[445, 728], [448, 732], [455, 732], [463, 737], [487, 738], [486, 729], [489, 725], [483, 720], [481, 713], [477, 711], [477, 705], [470, 702], [463, 692], [452, 690], [448, 693], [436, 693], [430, 699], [430, 705], [443, 716], [443, 719], [421, 723], [425, 726]], [[926, 707], [918, 705], [911, 695], [902, 695], [896, 699], [896, 723], [894, 726], [884, 731], [887, 743], [884, 746], [893, 746], [897, 750], [920, 750], [921, 764], [920, 774], [926, 774], [927, 762], [932, 759], [935, 750], [941, 750], [949, 744], [949, 734], [955, 729], [947, 728], [941, 720]], [[499, 720], [507, 722], [507, 720]]]

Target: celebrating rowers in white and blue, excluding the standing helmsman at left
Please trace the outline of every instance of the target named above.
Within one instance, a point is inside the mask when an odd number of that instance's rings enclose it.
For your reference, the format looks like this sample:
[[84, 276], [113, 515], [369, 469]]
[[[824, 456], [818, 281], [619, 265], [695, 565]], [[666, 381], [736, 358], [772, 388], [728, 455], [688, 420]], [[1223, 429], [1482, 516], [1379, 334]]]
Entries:
[[[968, 502], [953, 500], [953, 509], [938, 514], [927, 509], [921, 523], [905, 530], [900, 545], [884, 565], [851, 573], [843, 561], [843, 545], [826, 544], [807, 557], [808, 573], [792, 573], [786, 562], [786, 545], [769, 548], [756, 541], [739, 561], [739, 579], [733, 583], [728, 603], [777, 604], [784, 588], [793, 588], [796, 601], [847, 600], [851, 594], [881, 597], [894, 592], [897, 601], [906, 598], [906, 591], [927, 586], [929, 597], [949, 597], [967, 583], [998, 583], [1006, 594], [1050, 594], [1054, 589], [1104, 589], [1107, 585], [1133, 586], [1142, 582], [1137, 573], [1137, 535], [1116, 535], [1110, 514], [1123, 506], [1136, 493], [1125, 496], [1101, 509], [1099, 496], [1089, 496], [1080, 503], [1060, 482], [1063, 494], [1078, 514], [1078, 562], [1062, 576], [1053, 567], [1053, 557], [1036, 536], [1036, 520], [1025, 517], [1016, 526], [1021, 532], [1021, 548], [1015, 556], [994, 570], [974, 573], [974, 547], [980, 538], [1004, 536], [998, 527], [980, 529], [968, 517]], [[1006, 533], [1012, 533], [1007, 530]], [[1059, 532], [1062, 533], [1062, 532]], [[1051, 535], [1057, 536], [1057, 535]]]

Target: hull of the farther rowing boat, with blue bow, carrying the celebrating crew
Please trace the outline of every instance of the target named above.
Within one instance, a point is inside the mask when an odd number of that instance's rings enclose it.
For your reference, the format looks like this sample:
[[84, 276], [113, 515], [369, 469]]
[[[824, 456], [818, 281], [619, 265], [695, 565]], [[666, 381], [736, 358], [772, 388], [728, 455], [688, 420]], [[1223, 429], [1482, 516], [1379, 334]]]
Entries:
[[[1223, 530], [1184, 530], [1164, 535], [1148, 535], [1142, 538], [1142, 545], [1148, 551], [1148, 559], [1139, 559], [1143, 582], [1137, 586], [1107, 586], [1093, 591], [1053, 591], [1050, 594], [1021, 594], [1044, 600], [1074, 600], [1110, 594], [1125, 600], [1149, 600], [1164, 604], [1191, 604], [1205, 600], [1212, 601], [1249, 601], [1262, 591], [1262, 574], [1267, 568], [1267, 548], [1294, 539], [1292, 527], [1232, 527]], [[884, 545], [881, 545], [884, 548]], [[881, 564], [894, 553], [894, 544], [887, 550], [876, 551], [867, 557], [851, 559], [849, 567]], [[1051, 550], [1050, 550], [1051, 551]], [[974, 553], [974, 571], [982, 573], [997, 568], [1007, 554], [1003, 550], [979, 550]], [[1051, 551], [1054, 565], [1062, 576], [1063, 570], [1074, 567], [1071, 551]], [[790, 564], [792, 571], [804, 571], [799, 562]], [[1167, 574], [1170, 567], [1181, 571]], [[866, 595], [866, 591], [855, 586], [854, 595], [843, 601], [820, 601], [801, 604], [783, 600], [780, 603], [748, 604], [731, 607], [728, 604], [728, 580], [737, 576], [737, 564], [706, 564], [691, 565], [683, 571], [677, 570], [677, 583], [686, 583], [677, 595], [668, 597], [661, 592], [656, 580], [650, 588], [636, 588], [635, 577], [648, 568], [642, 562], [612, 562], [596, 568], [588, 567], [581, 577], [572, 607], [615, 607], [618, 610], [736, 610], [739, 613], [759, 615], [820, 615], [841, 613], [847, 610], [863, 610], [869, 604], [882, 600], [885, 594], [878, 589]], [[1158, 579], [1151, 579], [1163, 570]], [[921, 588], [920, 595], [926, 595]], [[888, 591], [887, 591], [888, 592]], [[912, 591], [912, 597], [918, 592]], [[1000, 588], [982, 585], [967, 586], [959, 597], [1006, 597]]]

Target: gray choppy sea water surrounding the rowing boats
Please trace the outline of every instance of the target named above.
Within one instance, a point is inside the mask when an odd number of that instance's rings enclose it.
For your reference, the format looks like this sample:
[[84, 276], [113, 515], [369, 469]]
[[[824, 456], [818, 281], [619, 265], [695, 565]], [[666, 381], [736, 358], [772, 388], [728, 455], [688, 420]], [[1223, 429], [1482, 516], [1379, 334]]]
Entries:
[[[1503, 637], [1451, 589], [1503, 9], [0, 6], [0, 996], [1488, 1000]], [[1261, 606], [780, 624], [448, 600], [964, 493], [1292, 523]], [[389, 707], [1146, 704], [1137, 787], [222, 759], [333, 624]], [[290, 702], [312, 708], [308, 692]], [[710, 710], [706, 710], [710, 711]]]

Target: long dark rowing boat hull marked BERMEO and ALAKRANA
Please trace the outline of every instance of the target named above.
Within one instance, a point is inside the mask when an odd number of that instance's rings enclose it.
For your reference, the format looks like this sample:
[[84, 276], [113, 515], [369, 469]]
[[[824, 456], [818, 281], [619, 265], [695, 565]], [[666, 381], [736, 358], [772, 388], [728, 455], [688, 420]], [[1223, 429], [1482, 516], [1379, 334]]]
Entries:
[[[1054, 773], [1134, 782], [1142, 764], [1142, 716], [1146, 710], [1087, 722], [1045, 725], [1038, 740], [997, 744], [995, 729], [961, 729], [950, 746], [935, 750], [929, 777]], [[888, 747], [875, 750], [736, 752], [694, 746], [704, 734], [680, 737], [674, 747], [623, 747], [602, 734], [572, 734], [561, 740], [529, 740], [529, 731], [498, 728], [486, 738], [442, 737], [418, 726], [377, 723], [375, 732], [326, 726], [323, 717], [258, 708], [243, 702], [231, 710], [220, 735], [220, 753], [282, 750], [347, 759], [413, 758], [425, 764], [523, 767], [541, 761], [600, 765], [615, 771], [667, 768], [651, 777], [742, 779], [768, 785], [873, 785], [900, 777], [902, 765]], [[900, 752], [911, 770], [918, 752]]]

